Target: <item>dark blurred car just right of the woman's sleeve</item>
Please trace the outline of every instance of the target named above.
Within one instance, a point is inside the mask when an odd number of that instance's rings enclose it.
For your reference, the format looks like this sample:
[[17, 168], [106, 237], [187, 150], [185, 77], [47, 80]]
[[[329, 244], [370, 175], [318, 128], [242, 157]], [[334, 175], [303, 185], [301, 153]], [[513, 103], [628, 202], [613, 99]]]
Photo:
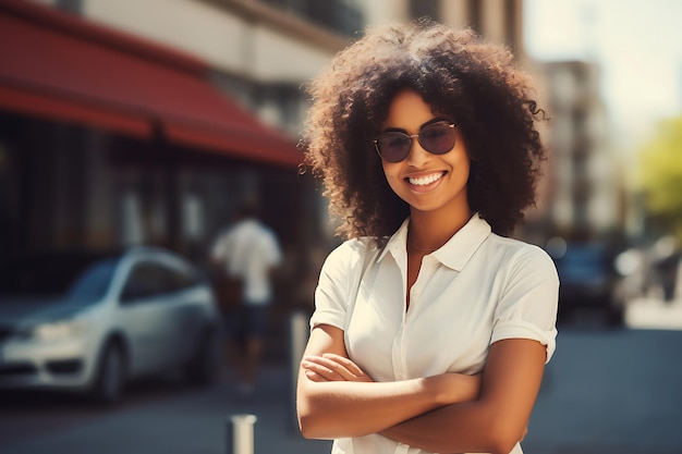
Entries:
[[580, 310], [593, 310], [601, 312], [609, 324], [621, 324], [624, 306], [614, 295], [618, 275], [608, 247], [602, 243], [561, 244], [560, 238], [552, 242], [548, 251], [559, 274], [559, 321], [569, 321]]

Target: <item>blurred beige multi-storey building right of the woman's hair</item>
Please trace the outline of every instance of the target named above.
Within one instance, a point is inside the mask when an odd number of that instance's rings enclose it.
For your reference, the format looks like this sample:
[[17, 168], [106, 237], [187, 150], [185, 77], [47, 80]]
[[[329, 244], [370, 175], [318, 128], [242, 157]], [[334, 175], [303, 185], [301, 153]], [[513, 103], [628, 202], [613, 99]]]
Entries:
[[623, 224], [623, 175], [612, 156], [599, 68], [584, 61], [543, 64], [551, 136], [548, 222], [576, 241], [605, 240]]

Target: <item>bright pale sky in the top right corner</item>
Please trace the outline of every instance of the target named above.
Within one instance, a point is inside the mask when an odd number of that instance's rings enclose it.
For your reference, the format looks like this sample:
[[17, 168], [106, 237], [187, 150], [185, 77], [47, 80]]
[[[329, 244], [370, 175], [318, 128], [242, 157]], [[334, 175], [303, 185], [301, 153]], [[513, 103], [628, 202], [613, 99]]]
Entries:
[[524, 44], [539, 61], [601, 68], [618, 147], [636, 147], [658, 121], [682, 114], [682, 0], [525, 0]]

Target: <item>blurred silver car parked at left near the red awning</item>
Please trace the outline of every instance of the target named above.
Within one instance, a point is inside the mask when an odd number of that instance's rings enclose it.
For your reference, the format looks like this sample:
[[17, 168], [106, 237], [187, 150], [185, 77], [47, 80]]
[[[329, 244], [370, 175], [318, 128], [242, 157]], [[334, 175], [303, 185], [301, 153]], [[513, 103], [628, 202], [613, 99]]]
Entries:
[[[97, 259], [59, 297], [17, 294], [19, 271], [4, 270], [17, 278], [4, 282], [14, 292], [0, 294], [0, 389], [77, 391], [112, 403], [143, 376], [181, 370], [193, 382], [212, 379], [214, 292], [178, 255], [136, 247]], [[38, 284], [37, 275], [26, 279]]]

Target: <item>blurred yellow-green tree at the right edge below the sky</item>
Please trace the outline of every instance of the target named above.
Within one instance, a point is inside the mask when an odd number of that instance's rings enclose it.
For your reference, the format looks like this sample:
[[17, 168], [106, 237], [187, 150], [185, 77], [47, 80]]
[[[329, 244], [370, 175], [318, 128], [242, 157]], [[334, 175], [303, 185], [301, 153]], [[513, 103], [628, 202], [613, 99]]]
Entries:
[[651, 223], [682, 240], [682, 116], [658, 125], [642, 147], [638, 169]]

